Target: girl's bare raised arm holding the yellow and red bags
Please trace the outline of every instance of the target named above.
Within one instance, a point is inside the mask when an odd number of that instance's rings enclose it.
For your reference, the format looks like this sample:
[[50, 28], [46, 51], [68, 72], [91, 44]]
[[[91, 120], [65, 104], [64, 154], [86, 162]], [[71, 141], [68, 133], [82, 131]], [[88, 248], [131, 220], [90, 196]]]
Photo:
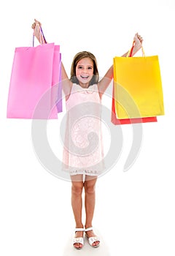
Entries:
[[[135, 44], [133, 47], [132, 56], [134, 56], [138, 52], [138, 50], [141, 49], [142, 42], [143, 42], [142, 37], [138, 33], [135, 34], [133, 40]], [[128, 52], [123, 54], [122, 57], [126, 57], [127, 55], [128, 55]], [[104, 78], [102, 78], [98, 83], [98, 91], [99, 91], [100, 97], [102, 97], [102, 95], [104, 94], [104, 91], [106, 91], [112, 79], [113, 79], [113, 65], [108, 69], [108, 71], [104, 75]]]

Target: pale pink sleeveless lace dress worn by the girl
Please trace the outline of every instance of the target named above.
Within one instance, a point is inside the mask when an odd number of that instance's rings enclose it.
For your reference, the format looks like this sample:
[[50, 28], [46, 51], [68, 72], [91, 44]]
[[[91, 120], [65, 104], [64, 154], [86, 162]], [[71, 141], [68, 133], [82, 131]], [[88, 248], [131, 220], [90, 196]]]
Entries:
[[104, 150], [97, 85], [84, 89], [74, 83], [66, 101], [66, 112], [63, 170], [71, 176], [100, 175], [104, 170]]

